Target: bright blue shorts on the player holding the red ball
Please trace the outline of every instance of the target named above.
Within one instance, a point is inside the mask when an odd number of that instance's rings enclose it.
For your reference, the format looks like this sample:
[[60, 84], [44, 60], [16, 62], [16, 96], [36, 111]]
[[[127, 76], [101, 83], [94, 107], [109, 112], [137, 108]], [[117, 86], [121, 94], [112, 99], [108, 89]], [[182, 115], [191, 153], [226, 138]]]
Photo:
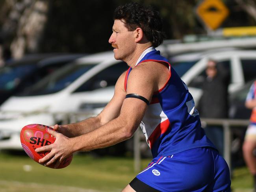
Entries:
[[156, 157], [130, 186], [137, 192], [230, 192], [230, 171], [213, 148]]

